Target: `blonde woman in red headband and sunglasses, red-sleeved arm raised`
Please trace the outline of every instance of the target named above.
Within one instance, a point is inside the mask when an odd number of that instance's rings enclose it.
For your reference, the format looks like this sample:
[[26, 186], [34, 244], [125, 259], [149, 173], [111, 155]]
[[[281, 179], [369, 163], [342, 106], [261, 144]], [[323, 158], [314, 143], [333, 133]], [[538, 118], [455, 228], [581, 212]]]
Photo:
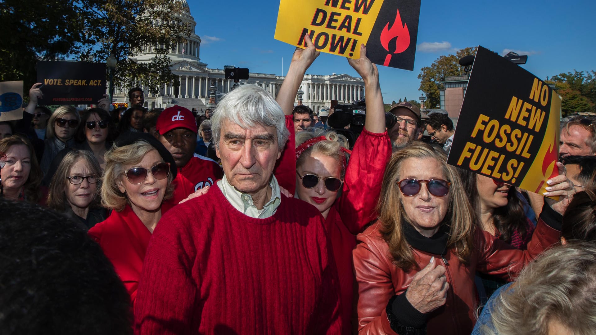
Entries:
[[[366, 57], [364, 45], [360, 54], [358, 60], [348, 61], [364, 79], [367, 114], [349, 163], [346, 153], [350, 151], [342, 135], [318, 129], [296, 135], [296, 193], [325, 218], [340, 278], [341, 316], [347, 334], [355, 327], [351, 324], [355, 235], [375, 218], [374, 208], [391, 156], [377, 67]], [[342, 195], [338, 197], [340, 189]]]

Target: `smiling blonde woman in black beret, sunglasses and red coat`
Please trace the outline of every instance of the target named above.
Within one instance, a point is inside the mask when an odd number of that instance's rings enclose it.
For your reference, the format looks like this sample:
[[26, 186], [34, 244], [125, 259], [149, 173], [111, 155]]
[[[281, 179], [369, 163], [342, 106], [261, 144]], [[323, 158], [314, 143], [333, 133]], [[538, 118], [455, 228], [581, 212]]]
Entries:
[[100, 196], [111, 214], [89, 229], [89, 235], [113, 263], [132, 303], [153, 229], [162, 214], [182, 200], [167, 200], [175, 176], [172, 155], [148, 133], [120, 137], [105, 154]]

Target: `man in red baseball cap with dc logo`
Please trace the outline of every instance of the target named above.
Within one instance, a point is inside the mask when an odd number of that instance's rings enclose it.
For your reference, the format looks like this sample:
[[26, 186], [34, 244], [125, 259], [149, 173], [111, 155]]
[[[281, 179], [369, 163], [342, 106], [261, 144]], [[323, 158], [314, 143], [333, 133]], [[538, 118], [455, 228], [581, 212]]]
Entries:
[[178, 178], [186, 178], [194, 190], [213, 185], [224, 176], [215, 160], [194, 153], [197, 146], [197, 122], [193, 112], [181, 106], [166, 108], [157, 118], [159, 141], [174, 157]]

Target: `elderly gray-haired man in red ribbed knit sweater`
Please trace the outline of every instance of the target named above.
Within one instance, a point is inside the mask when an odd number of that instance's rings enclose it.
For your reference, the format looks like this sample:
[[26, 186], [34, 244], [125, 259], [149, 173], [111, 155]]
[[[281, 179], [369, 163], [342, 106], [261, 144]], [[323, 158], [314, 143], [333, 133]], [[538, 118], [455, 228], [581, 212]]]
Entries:
[[224, 178], [170, 210], [147, 249], [136, 334], [339, 334], [337, 270], [318, 210], [273, 175], [288, 130], [256, 85], [212, 116]]

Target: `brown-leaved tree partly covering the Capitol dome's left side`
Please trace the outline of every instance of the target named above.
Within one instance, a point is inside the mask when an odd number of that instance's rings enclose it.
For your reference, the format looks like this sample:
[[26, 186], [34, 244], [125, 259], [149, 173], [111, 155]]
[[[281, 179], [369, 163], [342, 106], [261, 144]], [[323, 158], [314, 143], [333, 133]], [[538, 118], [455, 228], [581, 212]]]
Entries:
[[[167, 54], [184, 41], [191, 27], [181, 23], [176, 15], [184, 9], [175, 0], [82, 0], [88, 8], [86, 41], [89, 48], [80, 60], [105, 62], [114, 55], [115, 86], [126, 88], [142, 83], [157, 93], [164, 84], [179, 85], [170, 70]], [[136, 62], [132, 57], [151, 50], [156, 56], [149, 63]]]

